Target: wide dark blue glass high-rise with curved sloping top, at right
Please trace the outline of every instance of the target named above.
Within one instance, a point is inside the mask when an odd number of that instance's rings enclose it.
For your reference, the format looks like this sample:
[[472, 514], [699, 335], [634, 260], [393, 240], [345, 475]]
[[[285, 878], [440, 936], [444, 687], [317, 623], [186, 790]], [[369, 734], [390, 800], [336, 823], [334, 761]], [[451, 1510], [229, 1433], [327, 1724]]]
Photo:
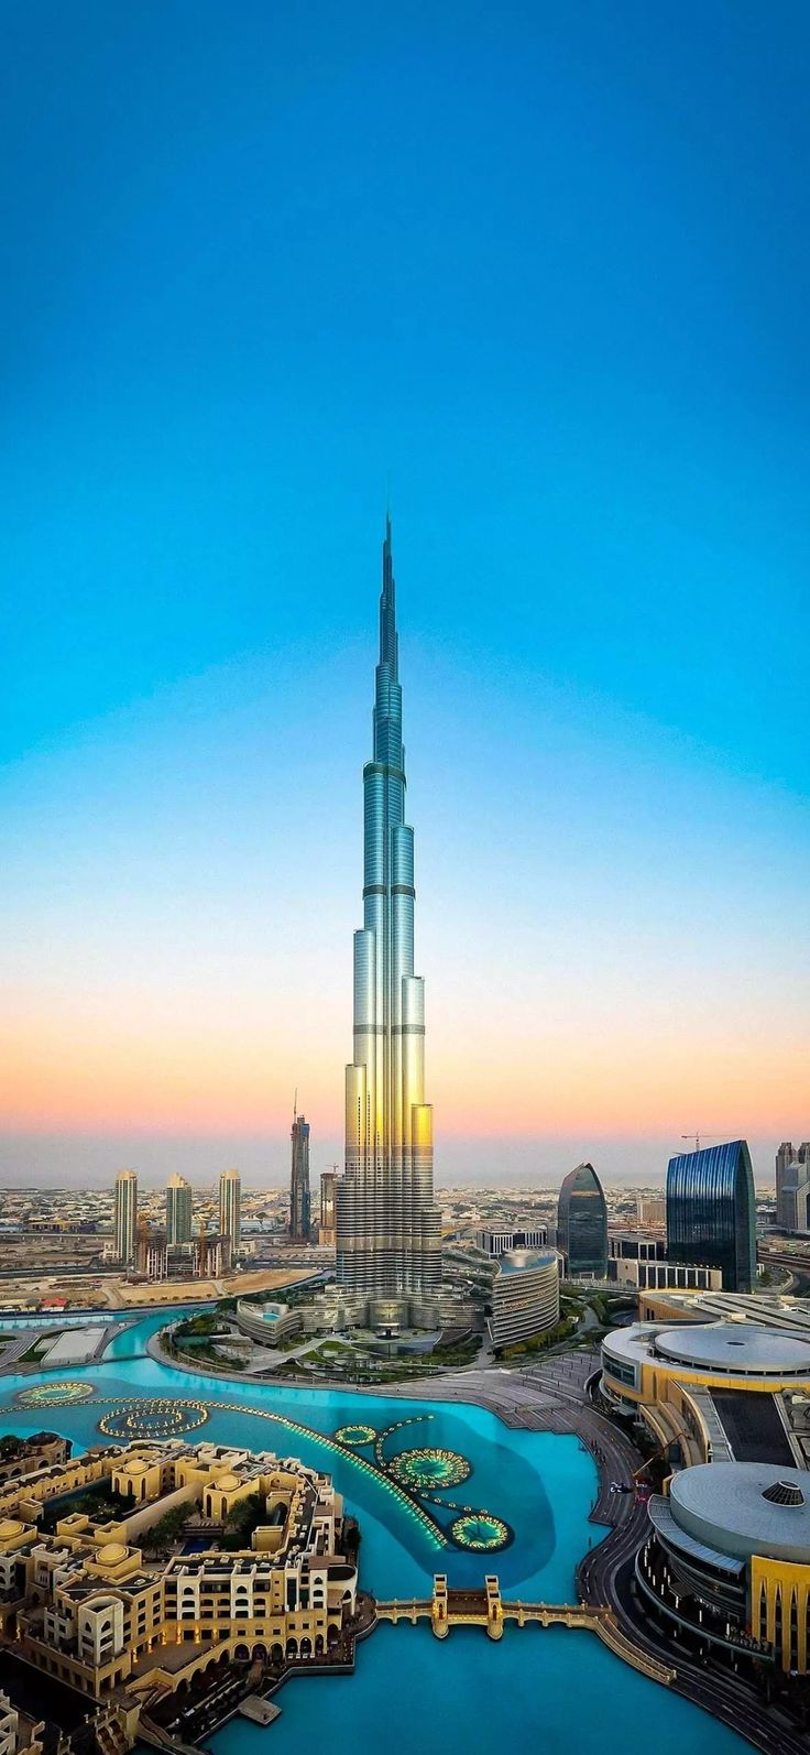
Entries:
[[666, 1257], [719, 1267], [724, 1292], [754, 1290], [756, 1202], [745, 1139], [670, 1158]]

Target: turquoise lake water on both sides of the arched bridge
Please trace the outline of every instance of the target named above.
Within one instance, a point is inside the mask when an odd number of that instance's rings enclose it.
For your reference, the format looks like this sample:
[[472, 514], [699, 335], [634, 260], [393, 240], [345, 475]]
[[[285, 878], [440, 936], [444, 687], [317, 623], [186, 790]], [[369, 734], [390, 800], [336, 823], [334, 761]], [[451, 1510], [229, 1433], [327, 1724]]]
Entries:
[[[165, 1311], [144, 1318], [107, 1348], [103, 1364], [86, 1371], [2, 1378], [0, 1434], [49, 1425], [84, 1448], [96, 1441], [103, 1402], [116, 1395], [202, 1400], [209, 1420], [189, 1434], [191, 1441], [274, 1450], [331, 1472], [359, 1518], [361, 1583], [375, 1595], [424, 1595], [437, 1571], [447, 1572], [451, 1583], [479, 1583], [486, 1571], [496, 1571], [507, 1595], [573, 1599], [575, 1564], [603, 1534], [587, 1522], [596, 1471], [575, 1437], [512, 1432], [473, 1406], [219, 1383], [133, 1358], [165, 1322]], [[19, 1390], [65, 1378], [91, 1385], [93, 1399], [74, 1408], [16, 1408]], [[312, 1430], [291, 1432], [284, 1420]], [[403, 1420], [416, 1423], [398, 1425]], [[384, 1481], [359, 1460], [330, 1450], [330, 1436], [358, 1422], [377, 1430], [398, 1425], [386, 1455], [414, 1446], [463, 1455], [472, 1472], [463, 1486], [437, 1495], [435, 1515], [449, 1522], [452, 1511], [440, 1511], [449, 1501], [491, 1511], [514, 1530], [512, 1544], [491, 1557], [437, 1544]], [[359, 1451], [358, 1458], [363, 1455], [372, 1453]], [[693, 1755], [749, 1750], [698, 1708], [628, 1669], [591, 1634], [566, 1629], [507, 1627], [493, 1644], [475, 1629], [456, 1629], [438, 1643], [426, 1627], [380, 1627], [358, 1648], [354, 1676], [295, 1680], [282, 1688], [279, 1704], [282, 1716], [270, 1732], [237, 1720], [214, 1739], [216, 1755], [265, 1755], [266, 1737], [281, 1755], [302, 1743], [330, 1748], [330, 1755], [356, 1755], [377, 1746], [387, 1727], [400, 1744], [414, 1743], [419, 1755], [501, 1755], [505, 1741], [549, 1755], [568, 1755], [572, 1746], [577, 1755], [603, 1755], [635, 1737], [633, 1727], [640, 1725], [654, 1737], [656, 1755], [680, 1755], [684, 1744]]]

